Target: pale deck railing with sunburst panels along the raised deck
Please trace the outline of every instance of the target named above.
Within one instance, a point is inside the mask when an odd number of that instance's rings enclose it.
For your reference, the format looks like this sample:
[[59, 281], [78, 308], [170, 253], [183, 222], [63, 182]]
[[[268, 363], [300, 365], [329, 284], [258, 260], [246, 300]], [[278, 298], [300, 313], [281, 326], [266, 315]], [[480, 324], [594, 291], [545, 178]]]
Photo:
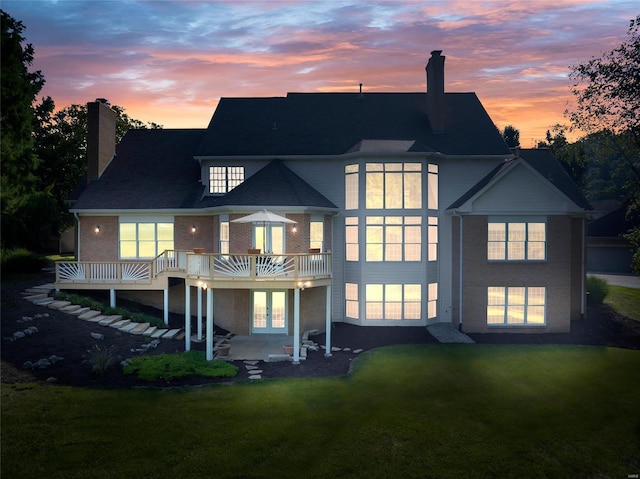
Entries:
[[148, 261], [56, 263], [56, 283], [150, 284], [158, 275], [170, 273], [210, 281], [330, 278], [331, 255], [198, 254], [169, 250]]

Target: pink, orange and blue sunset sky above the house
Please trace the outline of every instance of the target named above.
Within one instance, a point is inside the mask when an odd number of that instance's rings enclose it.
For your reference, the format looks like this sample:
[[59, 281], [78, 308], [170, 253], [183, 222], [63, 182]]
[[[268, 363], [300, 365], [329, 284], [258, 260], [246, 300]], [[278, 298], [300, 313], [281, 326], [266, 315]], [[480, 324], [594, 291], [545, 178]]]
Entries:
[[220, 97], [476, 92], [529, 148], [573, 96], [571, 65], [628, 37], [637, 0], [2, 0], [24, 23], [57, 108], [107, 98], [144, 122], [205, 128]]

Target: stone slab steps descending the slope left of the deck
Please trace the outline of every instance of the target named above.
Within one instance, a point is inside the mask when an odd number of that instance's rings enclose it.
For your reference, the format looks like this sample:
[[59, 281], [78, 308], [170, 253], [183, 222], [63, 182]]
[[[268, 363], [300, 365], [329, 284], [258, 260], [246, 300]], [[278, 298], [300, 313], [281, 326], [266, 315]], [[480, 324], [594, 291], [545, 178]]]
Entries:
[[43, 284], [25, 289], [22, 292], [22, 296], [25, 300], [33, 304], [46, 306], [62, 313], [77, 316], [79, 319], [96, 323], [100, 326], [117, 328], [122, 332], [148, 336], [153, 339], [184, 339], [183, 329], [161, 329], [157, 326], [151, 326], [149, 323], [136, 323], [128, 319], [123, 319], [122, 316], [117, 314], [108, 316], [103, 314], [102, 311], [81, 307], [69, 301], [56, 300], [51, 296], [54, 291], [55, 286], [53, 284]]

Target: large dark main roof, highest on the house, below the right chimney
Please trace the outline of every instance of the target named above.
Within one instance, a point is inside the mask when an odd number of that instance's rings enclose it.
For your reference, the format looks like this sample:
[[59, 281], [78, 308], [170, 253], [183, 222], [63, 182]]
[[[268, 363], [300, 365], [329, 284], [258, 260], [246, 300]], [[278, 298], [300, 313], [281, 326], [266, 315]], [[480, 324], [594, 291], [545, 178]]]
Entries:
[[222, 98], [196, 156], [340, 155], [358, 150], [363, 140], [411, 141], [412, 152], [510, 153], [475, 93], [444, 96], [446, 131], [435, 133], [426, 93]]

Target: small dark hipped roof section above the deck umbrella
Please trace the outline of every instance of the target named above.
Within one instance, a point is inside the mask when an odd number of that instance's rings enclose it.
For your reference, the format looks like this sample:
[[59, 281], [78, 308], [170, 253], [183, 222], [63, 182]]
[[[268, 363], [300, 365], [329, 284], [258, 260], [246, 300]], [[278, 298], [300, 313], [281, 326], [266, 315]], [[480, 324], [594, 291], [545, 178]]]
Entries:
[[305, 206], [337, 209], [306, 181], [274, 160], [224, 196], [206, 196], [196, 207]]

